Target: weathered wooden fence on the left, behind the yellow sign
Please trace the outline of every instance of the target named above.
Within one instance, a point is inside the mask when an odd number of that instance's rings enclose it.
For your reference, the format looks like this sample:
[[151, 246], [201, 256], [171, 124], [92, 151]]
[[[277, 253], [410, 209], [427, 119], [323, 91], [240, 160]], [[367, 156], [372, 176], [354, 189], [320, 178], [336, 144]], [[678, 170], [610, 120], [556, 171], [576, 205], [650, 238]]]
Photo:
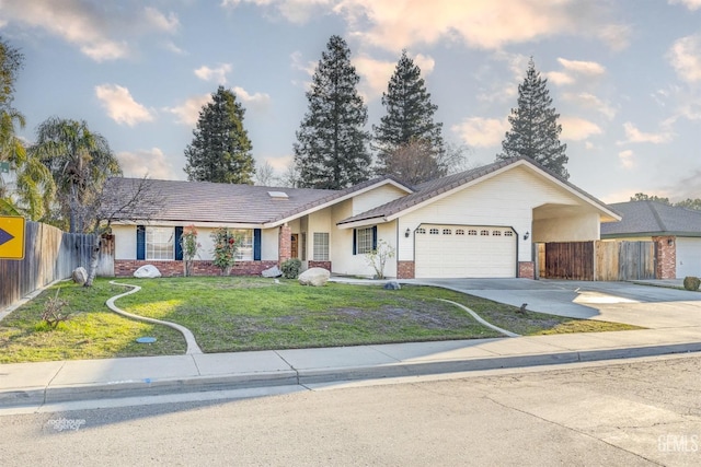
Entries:
[[55, 280], [69, 278], [79, 266], [88, 269], [93, 242], [94, 235], [27, 222], [24, 259], [0, 259], [0, 310]]

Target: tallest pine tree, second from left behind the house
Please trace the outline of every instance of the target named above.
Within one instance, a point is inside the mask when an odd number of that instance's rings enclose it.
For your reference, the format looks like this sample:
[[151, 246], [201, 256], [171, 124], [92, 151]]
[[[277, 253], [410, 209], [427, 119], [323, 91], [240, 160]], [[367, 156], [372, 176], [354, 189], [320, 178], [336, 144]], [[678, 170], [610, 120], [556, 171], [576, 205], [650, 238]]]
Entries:
[[367, 107], [356, 85], [360, 78], [350, 65], [350, 50], [331, 36], [307, 92], [309, 110], [297, 131], [295, 165], [300, 187], [341, 189], [370, 175]]

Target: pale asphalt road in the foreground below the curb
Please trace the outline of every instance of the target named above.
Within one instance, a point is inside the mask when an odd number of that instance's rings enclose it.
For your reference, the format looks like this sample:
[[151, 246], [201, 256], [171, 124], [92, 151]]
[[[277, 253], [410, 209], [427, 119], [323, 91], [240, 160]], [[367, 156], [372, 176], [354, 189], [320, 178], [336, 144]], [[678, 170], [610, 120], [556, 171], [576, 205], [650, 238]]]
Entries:
[[701, 465], [701, 355], [0, 417], [0, 465]]

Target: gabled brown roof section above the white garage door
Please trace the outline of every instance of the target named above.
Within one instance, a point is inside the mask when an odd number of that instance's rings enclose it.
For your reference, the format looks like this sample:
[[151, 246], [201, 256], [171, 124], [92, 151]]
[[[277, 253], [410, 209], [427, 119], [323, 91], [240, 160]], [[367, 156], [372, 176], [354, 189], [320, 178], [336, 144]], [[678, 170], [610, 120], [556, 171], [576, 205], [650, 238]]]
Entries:
[[596, 199], [594, 196], [589, 195], [588, 192], [577, 188], [576, 186], [572, 185], [571, 183], [568, 183], [567, 180], [559, 177], [558, 175], [549, 172], [548, 170], [545, 170], [544, 167], [542, 167], [540, 164], [536, 163], [535, 161], [531, 160], [527, 160], [525, 157], [514, 157], [514, 159], [509, 159], [509, 160], [504, 160], [504, 161], [498, 161], [498, 162], [494, 162], [492, 164], [487, 164], [478, 168], [473, 168], [467, 172], [461, 172], [459, 174], [455, 174], [455, 175], [449, 175], [447, 177], [443, 177], [443, 178], [436, 178], [434, 180], [429, 180], [426, 183], [423, 183], [418, 186], [416, 186], [416, 191], [407, 195], [405, 197], [402, 198], [398, 198], [393, 201], [390, 201], [386, 205], [379, 206], [375, 209], [371, 209], [369, 211], [359, 213], [357, 215], [354, 215], [352, 218], [348, 219], [344, 219], [343, 221], [341, 221], [340, 223], [350, 223], [350, 222], [358, 222], [358, 221], [364, 221], [364, 220], [369, 220], [369, 219], [379, 219], [379, 218], [387, 218], [387, 217], [391, 217], [394, 215], [401, 211], [404, 211], [405, 209], [412, 208], [416, 205], [420, 205], [430, 198], [434, 198], [438, 195], [441, 195], [446, 191], [450, 191], [453, 188], [460, 187], [467, 183], [476, 180], [479, 178], [482, 178], [491, 173], [494, 173], [501, 168], [507, 167], [512, 164], [515, 164], [518, 161], [526, 161], [527, 163], [535, 165], [536, 167], [540, 168], [541, 171], [545, 172], [547, 174], [553, 176], [554, 178], [556, 178], [558, 180], [560, 180], [562, 184], [568, 186], [570, 188], [572, 188], [573, 190], [577, 191], [579, 195], [582, 195], [584, 198], [589, 199], [591, 202], [600, 206], [600, 207], [606, 207], [606, 205], [601, 201], [599, 201], [598, 199]]

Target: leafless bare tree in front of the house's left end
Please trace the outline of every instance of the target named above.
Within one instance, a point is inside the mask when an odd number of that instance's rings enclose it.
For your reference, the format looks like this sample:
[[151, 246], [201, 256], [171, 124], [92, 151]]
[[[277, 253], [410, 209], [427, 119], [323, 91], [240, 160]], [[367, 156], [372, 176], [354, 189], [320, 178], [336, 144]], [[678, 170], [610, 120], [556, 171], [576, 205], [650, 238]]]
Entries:
[[92, 287], [97, 275], [103, 234], [110, 232], [112, 222], [149, 220], [163, 209], [164, 203], [164, 196], [149, 183], [148, 176], [120, 179], [119, 184], [112, 184], [107, 179], [101, 195], [96, 197], [96, 202], [91, 206], [90, 214], [95, 220], [96, 240], [90, 255], [90, 268], [84, 287]]

